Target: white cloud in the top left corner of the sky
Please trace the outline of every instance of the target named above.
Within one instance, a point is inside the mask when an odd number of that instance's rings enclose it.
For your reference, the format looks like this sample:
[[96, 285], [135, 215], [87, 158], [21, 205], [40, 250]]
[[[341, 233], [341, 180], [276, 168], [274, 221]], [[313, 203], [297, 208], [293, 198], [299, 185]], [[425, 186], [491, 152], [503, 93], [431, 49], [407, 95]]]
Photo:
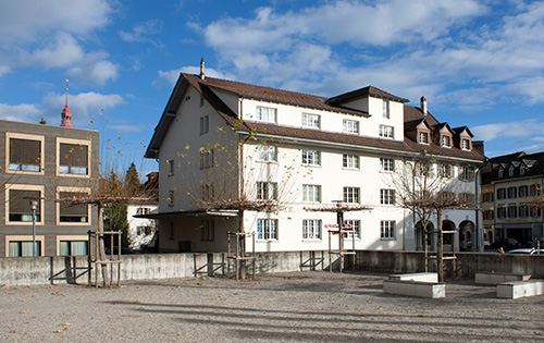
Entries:
[[107, 0], [0, 1], [0, 45], [36, 41], [55, 32], [85, 35], [107, 25]]

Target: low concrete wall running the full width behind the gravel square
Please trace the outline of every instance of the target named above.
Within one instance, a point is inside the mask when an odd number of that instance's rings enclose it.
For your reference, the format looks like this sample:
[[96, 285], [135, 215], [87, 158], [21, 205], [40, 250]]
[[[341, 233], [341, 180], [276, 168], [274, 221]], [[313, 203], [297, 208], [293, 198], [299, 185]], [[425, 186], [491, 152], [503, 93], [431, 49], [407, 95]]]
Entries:
[[[359, 250], [355, 257], [355, 270], [361, 271], [421, 272], [425, 266], [422, 252]], [[227, 272], [226, 254], [221, 253], [123, 255], [121, 260], [121, 281], [225, 275]], [[326, 270], [329, 252], [258, 253], [256, 261], [257, 273]], [[332, 261], [333, 269], [338, 269], [338, 255], [333, 255]], [[446, 260], [445, 265], [446, 275], [452, 275], [452, 261]], [[346, 267], [354, 268], [351, 256], [346, 257]], [[429, 271], [436, 271], [434, 261], [430, 262]], [[473, 278], [479, 271], [531, 274], [533, 279], [544, 279], [544, 256], [459, 253], [456, 271], [458, 277], [466, 279]], [[64, 282], [88, 282], [86, 256], [0, 258], [0, 286]]]

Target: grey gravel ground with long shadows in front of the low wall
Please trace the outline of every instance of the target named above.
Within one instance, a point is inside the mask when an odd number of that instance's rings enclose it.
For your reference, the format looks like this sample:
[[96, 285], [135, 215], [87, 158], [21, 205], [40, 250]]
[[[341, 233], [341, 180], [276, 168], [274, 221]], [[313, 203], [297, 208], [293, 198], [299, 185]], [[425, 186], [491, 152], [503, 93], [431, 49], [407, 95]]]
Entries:
[[1, 342], [532, 342], [544, 296], [446, 285], [446, 298], [382, 292], [384, 274], [277, 273], [0, 289]]

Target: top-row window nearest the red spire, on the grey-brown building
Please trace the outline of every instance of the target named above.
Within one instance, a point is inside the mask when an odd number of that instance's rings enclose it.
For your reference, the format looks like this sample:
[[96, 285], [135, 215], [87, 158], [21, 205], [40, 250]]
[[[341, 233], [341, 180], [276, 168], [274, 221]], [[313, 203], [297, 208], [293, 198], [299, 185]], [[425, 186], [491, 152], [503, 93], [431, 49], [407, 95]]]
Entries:
[[89, 142], [58, 138], [59, 174], [89, 175]]

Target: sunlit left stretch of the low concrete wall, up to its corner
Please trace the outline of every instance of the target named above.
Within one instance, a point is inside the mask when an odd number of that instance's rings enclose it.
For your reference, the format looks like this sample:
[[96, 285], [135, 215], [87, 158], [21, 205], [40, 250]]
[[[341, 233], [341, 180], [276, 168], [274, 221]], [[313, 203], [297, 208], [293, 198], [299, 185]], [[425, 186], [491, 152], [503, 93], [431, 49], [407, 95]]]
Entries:
[[[337, 255], [334, 256], [337, 259]], [[226, 254], [152, 254], [121, 256], [121, 281], [226, 275]], [[327, 252], [285, 252], [256, 254], [256, 272], [289, 272], [329, 268]], [[334, 260], [333, 260], [334, 261]], [[231, 272], [234, 264], [231, 264]], [[338, 261], [333, 268], [338, 268]], [[116, 267], [113, 267], [116, 280]], [[251, 269], [249, 269], [251, 272]], [[92, 281], [95, 271], [91, 272]], [[77, 257], [5, 257], [0, 258], [0, 286], [88, 283], [86, 256]], [[99, 280], [101, 274], [99, 272]]]

